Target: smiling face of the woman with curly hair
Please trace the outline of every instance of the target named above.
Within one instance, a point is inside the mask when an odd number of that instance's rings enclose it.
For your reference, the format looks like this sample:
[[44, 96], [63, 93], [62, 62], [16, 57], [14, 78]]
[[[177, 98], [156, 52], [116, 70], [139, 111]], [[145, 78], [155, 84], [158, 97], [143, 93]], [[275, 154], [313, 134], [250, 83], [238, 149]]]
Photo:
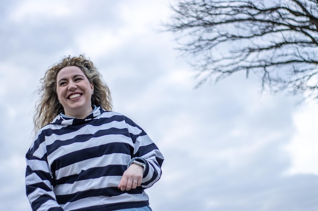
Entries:
[[94, 89], [77, 66], [62, 68], [56, 76], [56, 93], [65, 115], [85, 118], [91, 111], [91, 92]]

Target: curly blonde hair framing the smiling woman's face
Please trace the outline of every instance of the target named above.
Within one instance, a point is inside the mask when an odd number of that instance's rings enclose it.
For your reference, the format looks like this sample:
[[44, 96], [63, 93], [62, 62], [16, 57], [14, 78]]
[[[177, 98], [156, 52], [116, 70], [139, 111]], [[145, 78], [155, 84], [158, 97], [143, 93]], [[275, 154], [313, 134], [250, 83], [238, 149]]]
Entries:
[[56, 115], [63, 111], [62, 105], [58, 102], [56, 94], [56, 76], [59, 70], [67, 66], [79, 67], [89, 82], [94, 85], [94, 94], [91, 97], [92, 105], [101, 106], [105, 110], [112, 110], [112, 100], [110, 90], [106, 83], [102, 80], [102, 75], [93, 65], [86, 59], [84, 55], [78, 57], [65, 57], [59, 63], [49, 68], [40, 82], [42, 86], [39, 88], [40, 100], [36, 104], [34, 121], [34, 130], [37, 132], [44, 125], [50, 123]]

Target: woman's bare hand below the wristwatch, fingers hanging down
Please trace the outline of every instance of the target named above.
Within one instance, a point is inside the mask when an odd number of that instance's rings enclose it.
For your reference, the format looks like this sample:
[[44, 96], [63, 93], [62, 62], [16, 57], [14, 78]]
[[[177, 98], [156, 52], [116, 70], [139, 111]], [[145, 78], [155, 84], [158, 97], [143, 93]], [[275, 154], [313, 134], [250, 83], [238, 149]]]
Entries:
[[141, 185], [143, 167], [132, 163], [123, 173], [118, 188], [122, 191], [135, 189]]

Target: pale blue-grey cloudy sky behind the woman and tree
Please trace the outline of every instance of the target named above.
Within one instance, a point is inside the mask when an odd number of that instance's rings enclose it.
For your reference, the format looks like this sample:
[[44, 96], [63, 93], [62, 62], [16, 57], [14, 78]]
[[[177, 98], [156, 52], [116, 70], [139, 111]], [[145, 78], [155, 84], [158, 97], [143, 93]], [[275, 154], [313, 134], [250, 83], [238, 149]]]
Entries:
[[194, 72], [159, 33], [168, 0], [0, 2], [0, 210], [30, 211], [24, 155], [36, 89], [63, 56], [99, 68], [114, 110], [165, 155], [153, 210], [318, 210], [317, 102], [261, 95], [236, 74], [194, 89]]

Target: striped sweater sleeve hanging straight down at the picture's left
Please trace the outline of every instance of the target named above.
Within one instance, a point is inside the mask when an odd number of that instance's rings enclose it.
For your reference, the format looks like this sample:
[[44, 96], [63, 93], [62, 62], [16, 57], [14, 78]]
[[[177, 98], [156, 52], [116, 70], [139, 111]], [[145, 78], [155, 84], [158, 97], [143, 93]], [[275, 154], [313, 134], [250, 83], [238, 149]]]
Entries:
[[45, 142], [26, 153], [26, 195], [33, 211], [63, 211], [53, 192], [53, 177], [46, 159]]

